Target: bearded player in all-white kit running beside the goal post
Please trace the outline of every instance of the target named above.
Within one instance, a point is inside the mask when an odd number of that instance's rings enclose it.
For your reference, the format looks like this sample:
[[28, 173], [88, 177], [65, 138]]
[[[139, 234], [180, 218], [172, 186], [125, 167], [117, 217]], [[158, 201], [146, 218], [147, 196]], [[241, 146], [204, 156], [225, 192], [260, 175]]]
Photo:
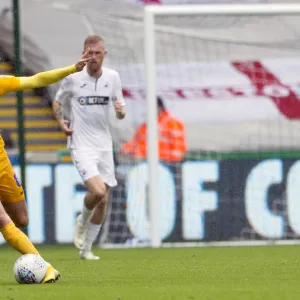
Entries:
[[[53, 107], [68, 148], [88, 192], [81, 214], [76, 219], [74, 244], [80, 257], [97, 260], [92, 251], [106, 214], [109, 188], [116, 186], [112, 137], [109, 131], [109, 106], [118, 119], [125, 117], [125, 101], [118, 72], [102, 67], [107, 54], [101, 37], [89, 36], [84, 49], [90, 48], [86, 68], [66, 77], [56, 94]], [[70, 101], [70, 121], [63, 118], [63, 103]]]

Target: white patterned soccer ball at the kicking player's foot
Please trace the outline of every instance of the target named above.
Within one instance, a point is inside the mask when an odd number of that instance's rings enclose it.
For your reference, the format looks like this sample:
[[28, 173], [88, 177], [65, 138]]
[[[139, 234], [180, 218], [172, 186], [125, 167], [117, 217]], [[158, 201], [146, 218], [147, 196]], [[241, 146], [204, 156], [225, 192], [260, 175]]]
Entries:
[[42, 283], [47, 271], [46, 262], [35, 254], [25, 254], [14, 265], [15, 279], [19, 283]]

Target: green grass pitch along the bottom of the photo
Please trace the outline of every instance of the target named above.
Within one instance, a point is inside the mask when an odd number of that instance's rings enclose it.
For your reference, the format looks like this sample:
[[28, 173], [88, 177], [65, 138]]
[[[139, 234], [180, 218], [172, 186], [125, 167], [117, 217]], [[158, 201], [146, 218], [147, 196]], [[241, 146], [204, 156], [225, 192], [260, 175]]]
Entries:
[[215, 247], [101, 250], [83, 261], [71, 246], [41, 246], [62, 274], [49, 285], [19, 285], [19, 256], [0, 248], [1, 300], [296, 300], [300, 299], [300, 247]]

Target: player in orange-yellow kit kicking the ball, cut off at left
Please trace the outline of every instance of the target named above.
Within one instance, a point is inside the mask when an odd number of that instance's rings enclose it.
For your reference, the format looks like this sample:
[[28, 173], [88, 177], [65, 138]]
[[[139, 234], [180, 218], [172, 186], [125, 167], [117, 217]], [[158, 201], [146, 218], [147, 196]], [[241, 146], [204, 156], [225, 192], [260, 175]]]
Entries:
[[[29, 77], [0, 76], [0, 96], [19, 90], [44, 87], [60, 81], [64, 77], [81, 71], [90, 59], [89, 49], [76, 64], [37, 73]], [[1, 101], [1, 99], [0, 99]], [[4, 141], [0, 135], [0, 231], [13, 248], [21, 254], [37, 254], [28, 237], [16, 226], [27, 226], [28, 212], [24, 192], [4, 149]], [[53, 283], [60, 274], [49, 263], [43, 283]]]

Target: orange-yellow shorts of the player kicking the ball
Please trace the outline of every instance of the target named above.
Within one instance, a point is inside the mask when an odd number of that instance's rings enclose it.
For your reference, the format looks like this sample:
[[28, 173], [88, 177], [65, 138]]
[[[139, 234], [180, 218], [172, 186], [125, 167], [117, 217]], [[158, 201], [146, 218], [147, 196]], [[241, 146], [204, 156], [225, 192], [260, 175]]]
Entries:
[[0, 147], [0, 201], [19, 202], [24, 200], [23, 188], [14, 172], [7, 153]]

